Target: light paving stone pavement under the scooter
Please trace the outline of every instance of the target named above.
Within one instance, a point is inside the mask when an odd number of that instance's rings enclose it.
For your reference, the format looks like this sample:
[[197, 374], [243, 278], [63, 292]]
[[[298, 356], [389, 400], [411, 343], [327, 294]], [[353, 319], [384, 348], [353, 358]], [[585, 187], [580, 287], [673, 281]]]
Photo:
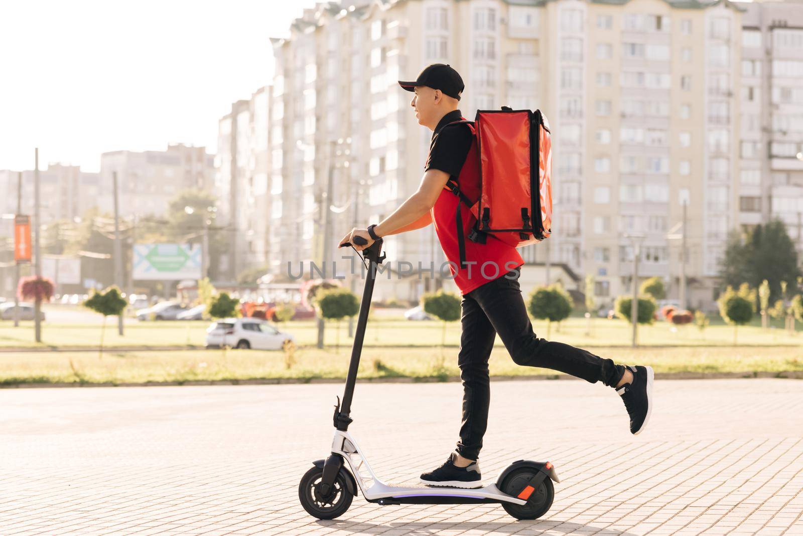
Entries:
[[[656, 382], [631, 436], [581, 380], [491, 384], [480, 466], [551, 460], [544, 518], [369, 505], [318, 521], [297, 486], [328, 454], [338, 384], [0, 390], [0, 534], [803, 534], [803, 381]], [[458, 383], [357, 384], [351, 432], [384, 481], [454, 448]]]

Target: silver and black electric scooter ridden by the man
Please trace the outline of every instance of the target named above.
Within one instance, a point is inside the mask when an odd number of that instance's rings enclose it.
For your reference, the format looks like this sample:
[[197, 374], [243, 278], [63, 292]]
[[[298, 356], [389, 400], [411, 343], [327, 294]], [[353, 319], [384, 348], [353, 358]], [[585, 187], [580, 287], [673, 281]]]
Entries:
[[[355, 236], [353, 241], [357, 245], [368, 243], [361, 236]], [[351, 243], [341, 245], [349, 247]], [[388, 485], [373, 473], [368, 460], [357, 446], [357, 441], [349, 434], [349, 424], [353, 421], [349, 416], [352, 395], [357, 382], [357, 368], [360, 365], [365, 326], [368, 323], [373, 284], [377, 276], [377, 266], [385, 260], [385, 254], [380, 256], [381, 248], [382, 239], [377, 239], [363, 250], [364, 259], [369, 261], [368, 277], [357, 317], [357, 331], [354, 333], [343, 402], [341, 404], [338, 397], [335, 405], [332, 453], [326, 460], [313, 461], [312, 468], [301, 477], [301, 505], [315, 518], [338, 518], [349, 509], [359, 489], [365, 500], [378, 505], [499, 503], [514, 518], [540, 518], [552, 506], [555, 496], [552, 481], [560, 482], [555, 468], [548, 461], [514, 461], [499, 474], [495, 483], [482, 488]]]

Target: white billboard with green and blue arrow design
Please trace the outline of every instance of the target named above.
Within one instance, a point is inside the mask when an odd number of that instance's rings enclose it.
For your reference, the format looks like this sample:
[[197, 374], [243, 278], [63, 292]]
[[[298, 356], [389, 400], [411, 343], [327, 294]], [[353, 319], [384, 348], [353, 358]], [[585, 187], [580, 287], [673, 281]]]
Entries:
[[134, 279], [201, 279], [201, 247], [198, 244], [137, 243], [133, 259]]

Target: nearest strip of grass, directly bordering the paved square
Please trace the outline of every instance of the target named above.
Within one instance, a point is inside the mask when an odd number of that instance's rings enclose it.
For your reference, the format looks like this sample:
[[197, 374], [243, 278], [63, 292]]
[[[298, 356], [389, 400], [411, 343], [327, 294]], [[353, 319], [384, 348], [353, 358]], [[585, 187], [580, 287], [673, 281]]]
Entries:
[[[797, 347], [591, 349], [618, 363], [649, 364], [661, 372], [780, 372], [803, 371], [803, 352]], [[457, 350], [439, 348], [375, 348], [363, 352], [360, 378], [418, 378], [446, 380], [458, 376]], [[0, 356], [0, 385], [20, 383], [145, 383], [271, 378], [344, 378], [350, 352], [301, 349], [287, 369], [283, 352], [256, 350], [178, 350], [170, 352], [96, 353], [6, 352]], [[491, 375], [557, 374], [554, 370], [517, 366], [507, 352], [495, 349]]]

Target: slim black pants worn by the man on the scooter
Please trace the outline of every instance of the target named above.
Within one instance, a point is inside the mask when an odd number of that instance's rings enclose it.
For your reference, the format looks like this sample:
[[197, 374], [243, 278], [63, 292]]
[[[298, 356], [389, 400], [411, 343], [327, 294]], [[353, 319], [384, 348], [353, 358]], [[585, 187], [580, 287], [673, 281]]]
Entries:
[[476, 460], [483, 447], [491, 401], [488, 358], [496, 333], [517, 365], [560, 370], [590, 383], [615, 387], [625, 367], [586, 350], [537, 338], [524, 306], [518, 270], [463, 295], [458, 366], [463, 380], [463, 425], [457, 452]]

